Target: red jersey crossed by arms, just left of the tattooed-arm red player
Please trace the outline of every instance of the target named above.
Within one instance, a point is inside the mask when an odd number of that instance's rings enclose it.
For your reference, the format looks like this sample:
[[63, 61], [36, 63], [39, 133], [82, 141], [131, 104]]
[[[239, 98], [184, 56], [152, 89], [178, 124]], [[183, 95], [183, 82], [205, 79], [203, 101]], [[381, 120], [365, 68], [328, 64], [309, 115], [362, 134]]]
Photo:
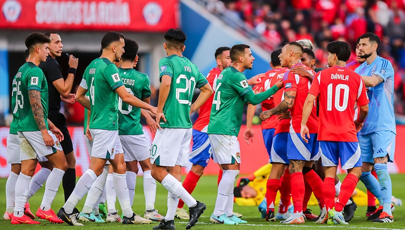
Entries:
[[[288, 69], [287, 68], [276, 68], [276, 69], [268, 70], [265, 73], [265, 76], [260, 79], [261, 80], [260, 83], [254, 85], [253, 89], [262, 87], [263, 90], [267, 90], [267, 89], [271, 88], [274, 85], [274, 83], [277, 82], [277, 80], [282, 79], [282, 76], [284, 75], [286, 70], [288, 70]], [[282, 90], [278, 90], [278, 91], [282, 91]], [[275, 94], [271, 95], [270, 97], [265, 99], [263, 102], [261, 102], [262, 111], [269, 110], [277, 105], [277, 104], [273, 103], [274, 95]], [[271, 116], [270, 118], [262, 121], [261, 129], [274, 128], [276, 120], [277, 119], [275, 116]]]

